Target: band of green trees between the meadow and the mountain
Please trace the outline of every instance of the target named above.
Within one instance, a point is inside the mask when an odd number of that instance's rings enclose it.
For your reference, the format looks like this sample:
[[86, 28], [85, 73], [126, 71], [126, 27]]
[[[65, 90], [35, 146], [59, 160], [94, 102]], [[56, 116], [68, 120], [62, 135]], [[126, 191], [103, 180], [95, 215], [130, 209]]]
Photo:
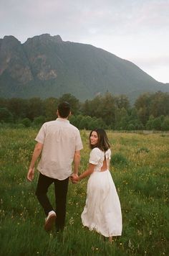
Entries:
[[84, 102], [70, 93], [48, 99], [0, 98], [0, 124], [40, 126], [56, 119], [57, 106], [62, 101], [71, 104], [69, 121], [79, 129], [169, 130], [169, 93], [161, 91], [141, 94], [132, 106], [127, 96], [109, 92]]

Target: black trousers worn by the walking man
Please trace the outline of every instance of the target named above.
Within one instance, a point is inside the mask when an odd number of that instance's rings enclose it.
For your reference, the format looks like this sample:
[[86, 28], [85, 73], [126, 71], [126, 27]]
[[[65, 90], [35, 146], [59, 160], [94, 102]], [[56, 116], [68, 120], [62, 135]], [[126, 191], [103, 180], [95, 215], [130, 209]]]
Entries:
[[36, 196], [39, 203], [42, 205], [44, 212], [48, 215], [49, 211], [54, 211], [52, 204], [49, 202], [47, 197], [47, 191], [49, 186], [54, 183], [55, 188], [55, 200], [56, 200], [56, 227], [57, 230], [64, 228], [64, 221], [66, 216], [66, 202], [67, 202], [67, 188], [68, 188], [69, 177], [65, 180], [57, 180], [49, 178], [42, 173], [39, 174], [39, 180], [37, 183]]

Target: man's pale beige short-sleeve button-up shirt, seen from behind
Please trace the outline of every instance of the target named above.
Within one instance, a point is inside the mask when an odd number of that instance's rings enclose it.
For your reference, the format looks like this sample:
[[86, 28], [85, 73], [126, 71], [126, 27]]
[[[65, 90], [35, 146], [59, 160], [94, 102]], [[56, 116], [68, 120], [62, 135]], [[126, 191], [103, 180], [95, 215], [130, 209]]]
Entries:
[[67, 119], [57, 118], [44, 123], [35, 140], [43, 144], [41, 160], [37, 166], [39, 172], [58, 180], [69, 177], [74, 152], [83, 148], [77, 127]]

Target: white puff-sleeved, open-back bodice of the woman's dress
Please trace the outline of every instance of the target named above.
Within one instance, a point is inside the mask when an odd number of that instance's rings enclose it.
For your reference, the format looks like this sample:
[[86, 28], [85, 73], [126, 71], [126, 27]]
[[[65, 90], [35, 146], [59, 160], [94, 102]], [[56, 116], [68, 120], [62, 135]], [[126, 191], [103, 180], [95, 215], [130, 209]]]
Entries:
[[91, 152], [90, 152], [90, 160], [89, 162], [92, 163], [95, 166], [94, 171], [95, 172], [100, 172], [102, 165], [103, 165], [103, 161], [107, 160], [107, 169], [109, 167], [109, 163], [110, 163], [110, 157], [111, 157], [111, 150], [108, 149], [106, 152], [103, 152], [102, 150], [100, 150], [98, 147], [95, 147]]

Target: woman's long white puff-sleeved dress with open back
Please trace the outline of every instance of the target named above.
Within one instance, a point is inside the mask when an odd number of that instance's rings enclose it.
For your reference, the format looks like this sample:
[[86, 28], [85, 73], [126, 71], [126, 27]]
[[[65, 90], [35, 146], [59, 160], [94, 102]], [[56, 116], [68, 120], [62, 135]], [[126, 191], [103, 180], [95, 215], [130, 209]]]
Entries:
[[90, 152], [89, 162], [96, 166], [87, 182], [86, 204], [81, 215], [84, 227], [105, 237], [122, 234], [122, 213], [115, 184], [108, 169], [101, 171], [105, 157], [108, 166], [110, 156], [110, 149], [102, 152], [95, 147]]

